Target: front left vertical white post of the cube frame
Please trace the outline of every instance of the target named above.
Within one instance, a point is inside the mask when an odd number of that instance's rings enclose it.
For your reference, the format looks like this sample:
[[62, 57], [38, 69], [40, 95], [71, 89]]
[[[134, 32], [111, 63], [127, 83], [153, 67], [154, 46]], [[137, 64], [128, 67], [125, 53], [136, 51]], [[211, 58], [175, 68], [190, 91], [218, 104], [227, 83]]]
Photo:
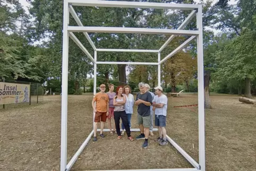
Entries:
[[61, 171], [66, 170], [67, 162], [67, 77], [69, 69], [69, 4], [63, 3], [63, 42], [62, 42], [62, 104], [61, 104]]

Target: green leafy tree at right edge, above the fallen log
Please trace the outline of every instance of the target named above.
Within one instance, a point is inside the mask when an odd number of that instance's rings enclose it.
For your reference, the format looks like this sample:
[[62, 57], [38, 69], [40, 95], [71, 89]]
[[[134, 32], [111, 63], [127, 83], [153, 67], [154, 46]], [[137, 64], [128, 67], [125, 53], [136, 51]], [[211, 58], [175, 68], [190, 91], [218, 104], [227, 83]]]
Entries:
[[218, 53], [219, 68], [217, 74], [226, 80], [245, 80], [245, 96], [251, 96], [251, 80], [256, 78], [255, 47], [256, 32], [248, 31], [235, 38]]

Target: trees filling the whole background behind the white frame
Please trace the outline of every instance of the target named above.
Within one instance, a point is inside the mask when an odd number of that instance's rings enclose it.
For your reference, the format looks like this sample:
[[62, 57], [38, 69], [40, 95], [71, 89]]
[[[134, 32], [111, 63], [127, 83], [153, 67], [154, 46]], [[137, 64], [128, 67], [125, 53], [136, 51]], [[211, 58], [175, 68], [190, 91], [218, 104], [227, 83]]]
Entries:
[[[63, 1], [28, 2], [31, 7], [25, 11], [18, 0], [0, 0], [1, 78], [48, 82], [47, 86], [58, 85], [55, 89], [61, 91]], [[195, 3], [192, 0], [150, 2]], [[216, 4], [212, 1], [200, 3], [203, 5], [204, 70], [211, 71], [209, 90], [244, 94], [251, 98], [251, 93], [256, 93], [256, 0], [238, 0], [234, 5], [221, 0]], [[74, 6], [74, 10], [84, 25], [160, 29], [177, 29], [190, 13], [181, 10], [83, 6]], [[70, 25], [77, 25], [71, 15]], [[184, 29], [196, 30], [195, 19]], [[75, 36], [93, 56], [93, 48], [83, 33], [75, 33]], [[159, 49], [170, 35], [89, 33], [89, 37], [97, 48]], [[187, 38], [175, 37], [161, 52], [161, 59]], [[84, 87], [85, 91], [85, 87], [92, 86], [93, 64], [72, 40], [69, 45], [69, 93], [81, 94], [80, 87]], [[157, 53], [98, 52], [97, 59], [157, 62]], [[136, 85], [144, 81], [152, 87], [158, 81], [157, 66], [146, 65], [98, 65], [95, 76], [105, 83]], [[196, 40], [161, 66], [161, 85], [165, 91], [197, 91]]]

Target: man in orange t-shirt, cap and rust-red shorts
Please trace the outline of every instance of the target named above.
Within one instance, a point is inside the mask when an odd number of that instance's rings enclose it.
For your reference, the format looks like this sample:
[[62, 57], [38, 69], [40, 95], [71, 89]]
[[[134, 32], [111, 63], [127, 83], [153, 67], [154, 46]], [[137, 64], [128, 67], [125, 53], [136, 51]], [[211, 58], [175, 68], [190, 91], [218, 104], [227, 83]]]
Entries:
[[[92, 108], [93, 108], [93, 112], [95, 112], [95, 118], [94, 118], [94, 126], [93, 126], [93, 130], [94, 130], [94, 137], [93, 137], [93, 141], [97, 141], [97, 137], [96, 137], [96, 133], [97, 133], [97, 129], [98, 129], [98, 123], [100, 123], [100, 136], [102, 138], [104, 138], [104, 134], [103, 134], [103, 129], [104, 129], [104, 124], [107, 120], [107, 116], [108, 116], [108, 95], [107, 93], [105, 93], [106, 90], [106, 85], [105, 84], [101, 84], [100, 85], [100, 92], [96, 93], [95, 97], [92, 100]], [[96, 102], [96, 105], [95, 105]]]

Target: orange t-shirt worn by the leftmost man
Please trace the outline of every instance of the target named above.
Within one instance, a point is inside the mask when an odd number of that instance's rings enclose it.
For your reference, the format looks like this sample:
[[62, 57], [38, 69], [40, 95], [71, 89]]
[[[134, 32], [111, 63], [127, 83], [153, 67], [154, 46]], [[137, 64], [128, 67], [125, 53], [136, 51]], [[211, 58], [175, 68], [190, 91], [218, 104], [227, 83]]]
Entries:
[[96, 93], [93, 101], [96, 101], [97, 112], [107, 112], [107, 106], [109, 101], [107, 93]]

